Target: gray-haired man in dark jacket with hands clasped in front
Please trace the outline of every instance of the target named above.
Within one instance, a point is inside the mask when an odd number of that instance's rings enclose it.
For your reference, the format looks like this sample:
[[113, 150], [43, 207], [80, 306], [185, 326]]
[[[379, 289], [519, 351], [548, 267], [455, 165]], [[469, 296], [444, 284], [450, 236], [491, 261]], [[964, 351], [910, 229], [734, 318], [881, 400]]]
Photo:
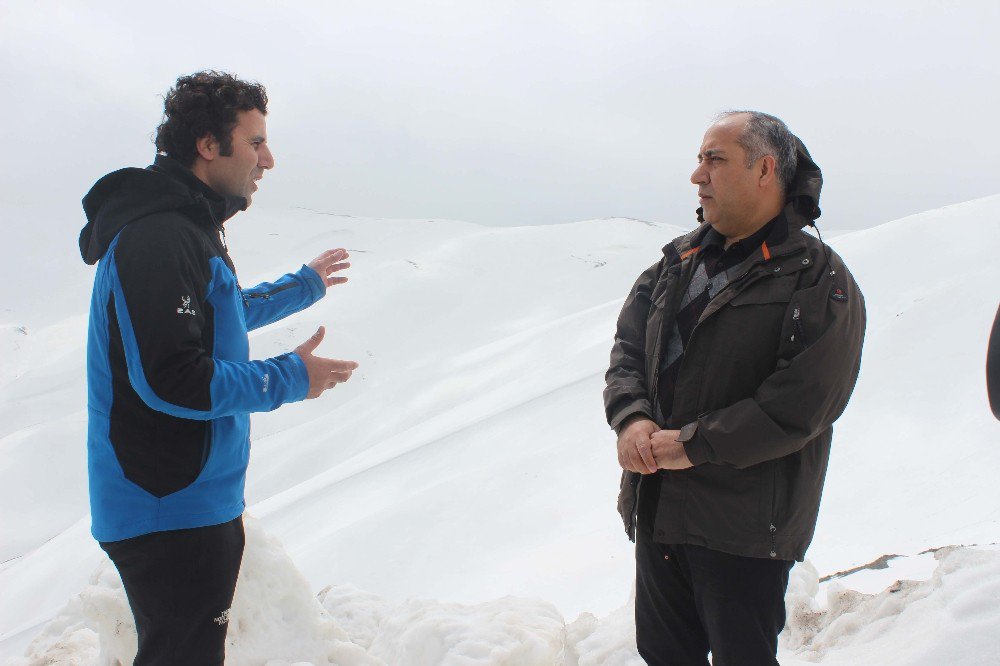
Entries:
[[691, 182], [701, 224], [626, 298], [604, 391], [636, 542], [636, 642], [650, 664], [777, 664], [864, 299], [803, 232], [823, 178], [781, 120], [720, 115]]

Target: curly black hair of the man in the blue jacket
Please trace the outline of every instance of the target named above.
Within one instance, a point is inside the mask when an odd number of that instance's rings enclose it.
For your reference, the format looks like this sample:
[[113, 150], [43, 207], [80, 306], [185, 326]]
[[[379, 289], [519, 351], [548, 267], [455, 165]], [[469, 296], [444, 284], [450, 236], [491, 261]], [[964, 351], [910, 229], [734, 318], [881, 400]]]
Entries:
[[251, 109], [267, 114], [267, 91], [259, 83], [212, 70], [182, 76], [163, 98], [156, 150], [190, 167], [198, 155], [195, 142], [211, 134], [220, 153], [232, 155], [236, 114]]

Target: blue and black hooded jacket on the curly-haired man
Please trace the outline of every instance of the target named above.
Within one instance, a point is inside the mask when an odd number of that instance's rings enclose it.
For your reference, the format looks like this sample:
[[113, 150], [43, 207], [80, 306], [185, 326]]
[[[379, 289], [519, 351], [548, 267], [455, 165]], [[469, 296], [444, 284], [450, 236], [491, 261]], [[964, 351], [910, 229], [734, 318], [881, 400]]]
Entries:
[[92, 532], [98, 541], [216, 525], [243, 512], [250, 412], [302, 400], [295, 354], [251, 361], [247, 331], [326, 286], [303, 266], [242, 289], [222, 224], [246, 208], [180, 163], [99, 180], [80, 252], [98, 262], [87, 343]]

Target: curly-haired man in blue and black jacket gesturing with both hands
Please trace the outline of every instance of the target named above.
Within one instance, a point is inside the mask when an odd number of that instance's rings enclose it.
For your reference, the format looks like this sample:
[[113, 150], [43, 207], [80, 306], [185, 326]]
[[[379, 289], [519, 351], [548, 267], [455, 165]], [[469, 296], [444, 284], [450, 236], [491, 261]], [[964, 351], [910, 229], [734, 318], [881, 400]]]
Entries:
[[146, 169], [83, 199], [80, 252], [98, 263], [87, 347], [92, 532], [121, 574], [136, 664], [221, 664], [243, 557], [251, 412], [347, 381], [352, 361], [294, 351], [251, 360], [247, 332], [347, 278], [348, 253], [244, 289], [223, 224], [274, 167], [267, 94], [222, 72], [177, 79]]

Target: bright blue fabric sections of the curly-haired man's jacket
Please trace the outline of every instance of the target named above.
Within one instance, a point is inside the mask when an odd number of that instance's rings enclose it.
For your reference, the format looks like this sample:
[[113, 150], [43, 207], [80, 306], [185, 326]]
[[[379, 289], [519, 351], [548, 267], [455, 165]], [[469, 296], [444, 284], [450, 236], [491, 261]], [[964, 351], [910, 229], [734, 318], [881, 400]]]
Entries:
[[[202, 301], [211, 306], [214, 326], [211, 406], [192, 409], [164, 400], [150, 386], [115, 264], [117, 242], [116, 238], [98, 265], [91, 301], [87, 368], [92, 533], [99, 541], [118, 541], [149, 532], [232, 520], [244, 508], [249, 413], [303, 400], [309, 388], [305, 366], [293, 353], [251, 361], [247, 331], [312, 305], [325, 294], [326, 287], [315, 271], [303, 266], [274, 283], [263, 283], [241, 293], [235, 275], [222, 258], [211, 257], [211, 279], [201, 295]], [[212, 445], [200, 474], [190, 485], [163, 497], [154, 496], [125, 477], [111, 443], [114, 394], [109, 300], [113, 301], [121, 331], [128, 380], [142, 401], [173, 417], [209, 421]]]

